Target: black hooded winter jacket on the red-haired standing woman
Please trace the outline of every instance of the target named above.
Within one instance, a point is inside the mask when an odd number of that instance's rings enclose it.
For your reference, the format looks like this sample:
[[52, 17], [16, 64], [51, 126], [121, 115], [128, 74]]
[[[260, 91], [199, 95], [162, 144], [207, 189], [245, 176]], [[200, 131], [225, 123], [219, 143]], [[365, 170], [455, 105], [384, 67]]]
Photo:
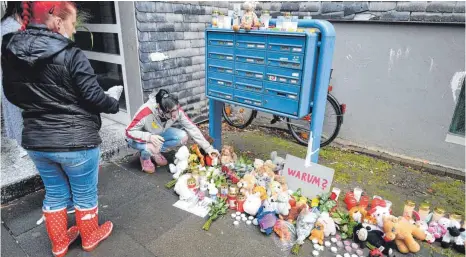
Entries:
[[95, 148], [100, 113], [117, 113], [84, 53], [44, 26], [7, 34], [2, 42], [6, 98], [23, 109], [23, 143], [36, 151]]

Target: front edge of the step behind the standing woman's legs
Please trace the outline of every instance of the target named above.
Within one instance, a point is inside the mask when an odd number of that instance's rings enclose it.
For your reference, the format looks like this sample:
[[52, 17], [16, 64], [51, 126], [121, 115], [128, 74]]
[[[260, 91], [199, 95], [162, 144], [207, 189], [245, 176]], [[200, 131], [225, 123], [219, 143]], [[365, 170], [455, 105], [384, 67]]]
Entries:
[[[110, 149], [101, 154], [101, 165], [110, 162], [112, 159], [121, 156], [122, 154], [127, 151], [128, 146], [121, 145], [116, 147], [115, 149]], [[11, 183], [2, 187], [1, 190], [1, 204], [8, 203], [20, 197], [26, 196], [28, 194], [34, 193], [38, 190], [44, 188], [44, 183], [39, 175], [34, 175], [23, 180]]]

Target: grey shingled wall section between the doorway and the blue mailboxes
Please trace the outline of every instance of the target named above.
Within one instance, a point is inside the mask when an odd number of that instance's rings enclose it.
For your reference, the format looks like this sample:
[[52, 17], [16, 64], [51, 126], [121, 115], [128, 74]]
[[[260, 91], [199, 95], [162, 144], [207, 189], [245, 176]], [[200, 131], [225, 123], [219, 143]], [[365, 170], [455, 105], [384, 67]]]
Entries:
[[[142, 87], [178, 94], [186, 113], [198, 122], [208, 117], [204, 76], [204, 30], [213, 10], [228, 11], [227, 2], [136, 2]], [[168, 59], [152, 62], [151, 53]]]

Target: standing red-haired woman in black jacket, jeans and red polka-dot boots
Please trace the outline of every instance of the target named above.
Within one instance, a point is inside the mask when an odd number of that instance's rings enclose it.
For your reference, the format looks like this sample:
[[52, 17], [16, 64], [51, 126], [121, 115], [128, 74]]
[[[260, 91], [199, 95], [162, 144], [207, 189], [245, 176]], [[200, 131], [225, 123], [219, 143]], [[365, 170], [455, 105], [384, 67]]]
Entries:
[[[97, 181], [100, 113], [117, 113], [122, 87], [104, 92], [83, 51], [69, 39], [76, 31], [72, 2], [23, 2], [21, 32], [2, 42], [3, 87], [23, 109], [23, 147], [45, 185], [43, 213], [55, 256], [82, 238], [93, 250], [113, 229], [98, 225]], [[76, 224], [68, 229], [72, 197]]]

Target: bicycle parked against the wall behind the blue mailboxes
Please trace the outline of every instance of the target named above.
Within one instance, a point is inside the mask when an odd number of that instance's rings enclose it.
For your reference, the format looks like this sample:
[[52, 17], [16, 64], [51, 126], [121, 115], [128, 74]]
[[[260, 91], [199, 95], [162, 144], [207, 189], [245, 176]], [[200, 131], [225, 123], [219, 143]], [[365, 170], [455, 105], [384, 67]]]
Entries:
[[[332, 70], [333, 72], [333, 70]], [[330, 77], [332, 76], [330, 73]], [[325, 108], [324, 125], [322, 128], [320, 147], [329, 145], [340, 132], [340, 127], [343, 124], [343, 115], [346, 112], [346, 104], [340, 104], [338, 100], [330, 92], [333, 87], [329, 85], [327, 94], [327, 106]], [[332, 115], [327, 115], [327, 111], [333, 112]], [[249, 115], [245, 115], [248, 114]], [[242, 106], [225, 103], [223, 106], [223, 118], [228, 125], [244, 129], [251, 125], [253, 120], [257, 117], [258, 111], [250, 110]], [[310, 123], [311, 123], [312, 107], [310, 113], [301, 119], [290, 119], [279, 115], [273, 115], [271, 124], [283, 122], [286, 120], [288, 131], [299, 144], [307, 146], [309, 141]], [[334, 124], [333, 129], [326, 131], [326, 128]]]

